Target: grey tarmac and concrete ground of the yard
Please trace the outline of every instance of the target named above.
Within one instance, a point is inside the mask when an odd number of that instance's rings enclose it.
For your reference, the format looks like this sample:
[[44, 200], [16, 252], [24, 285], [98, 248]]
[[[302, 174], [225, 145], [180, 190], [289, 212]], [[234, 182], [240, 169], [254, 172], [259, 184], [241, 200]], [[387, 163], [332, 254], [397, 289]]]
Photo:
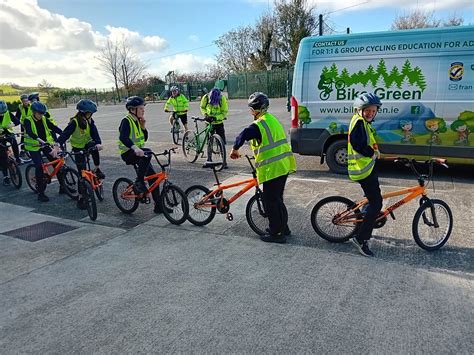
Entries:
[[[288, 116], [284, 100], [272, 103], [277, 117]], [[230, 104], [228, 150], [250, 123], [243, 100]], [[156, 152], [172, 146], [161, 109], [147, 106]], [[72, 112], [53, 114], [64, 126]], [[95, 116], [107, 175], [97, 221], [58, 195], [54, 181], [43, 204], [25, 182], [18, 191], [0, 186], [1, 353], [473, 352], [472, 167], [437, 171], [434, 191], [429, 185], [429, 196], [446, 201], [454, 215], [441, 250], [429, 253], [414, 242], [415, 201], [374, 232], [376, 256], [365, 258], [349, 243], [324, 241], [310, 222], [319, 199], [359, 199], [360, 188], [319, 158], [297, 156], [298, 172], [285, 190], [292, 236], [285, 245], [266, 244], [245, 219], [250, 192], [231, 206], [233, 221], [218, 214], [205, 227], [172, 225], [150, 205], [121, 213], [111, 188], [134, 174], [116, 151], [122, 113], [101, 107]], [[172, 159], [175, 184], [212, 186], [203, 159], [189, 164], [179, 152]], [[227, 183], [249, 173], [241, 159], [219, 177]], [[383, 191], [416, 184], [390, 164], [381, 164], [380, 181]], [[42, 222], [71, 230], [36, 242], [10, 236], [27, 226], [39, 233]]]

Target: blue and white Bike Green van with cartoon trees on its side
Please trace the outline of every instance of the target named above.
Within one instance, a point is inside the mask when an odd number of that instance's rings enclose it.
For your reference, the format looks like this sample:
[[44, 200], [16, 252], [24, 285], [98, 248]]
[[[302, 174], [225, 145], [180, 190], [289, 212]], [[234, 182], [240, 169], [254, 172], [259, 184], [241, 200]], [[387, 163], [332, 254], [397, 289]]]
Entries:
[[474, 162], [474, 26], [304, 38], [291, 98], [293, 152], [347, 173], [352, 103], [383, 103], [373, 127], [384, 155]]

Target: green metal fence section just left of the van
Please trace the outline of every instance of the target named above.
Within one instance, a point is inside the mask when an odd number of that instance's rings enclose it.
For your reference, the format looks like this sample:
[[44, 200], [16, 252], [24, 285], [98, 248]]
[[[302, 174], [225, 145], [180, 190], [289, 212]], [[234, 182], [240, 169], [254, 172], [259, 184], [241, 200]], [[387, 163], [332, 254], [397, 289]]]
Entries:
[[291, 94], [293, 67], [273, 70], [231, 74], [227, 80], [230, 99], [246, 99], [261, 91], [269, 97], [288, 97]]

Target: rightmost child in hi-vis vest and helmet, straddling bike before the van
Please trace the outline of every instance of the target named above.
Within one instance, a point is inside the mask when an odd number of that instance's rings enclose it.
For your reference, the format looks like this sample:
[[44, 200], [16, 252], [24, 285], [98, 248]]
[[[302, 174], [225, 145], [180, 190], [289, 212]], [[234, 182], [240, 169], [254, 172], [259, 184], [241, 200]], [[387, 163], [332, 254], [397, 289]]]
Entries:
[[372, 93], [360, 95], [354, 101], [355, 113], [349, 124], [347, 171], [349, 178], [360, 184], [365, 197], [369, 200], [359, 233], [351, 239], [364, 256], [374, 255], [367, 242], [372, 237], [375, 220], [382, 209], [382, 195], [375, 169], [380, 152], [371, 126], [380, 106], [382, 103], [376, 95]]

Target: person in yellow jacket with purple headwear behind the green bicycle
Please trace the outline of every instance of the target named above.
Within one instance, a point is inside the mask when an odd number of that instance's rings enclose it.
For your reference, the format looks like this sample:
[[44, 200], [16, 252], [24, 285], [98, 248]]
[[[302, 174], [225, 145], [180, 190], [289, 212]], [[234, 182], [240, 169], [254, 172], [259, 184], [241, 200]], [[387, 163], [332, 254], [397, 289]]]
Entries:
[[212, 124], [212, 133], [215, 132], [221, 136], [225, 144], [224, 120], [227, 119], [229, 113], [226, 97], [222, 95], [218, 88], [214, 88], [202, 97], [200, 109], [206, 121]]

